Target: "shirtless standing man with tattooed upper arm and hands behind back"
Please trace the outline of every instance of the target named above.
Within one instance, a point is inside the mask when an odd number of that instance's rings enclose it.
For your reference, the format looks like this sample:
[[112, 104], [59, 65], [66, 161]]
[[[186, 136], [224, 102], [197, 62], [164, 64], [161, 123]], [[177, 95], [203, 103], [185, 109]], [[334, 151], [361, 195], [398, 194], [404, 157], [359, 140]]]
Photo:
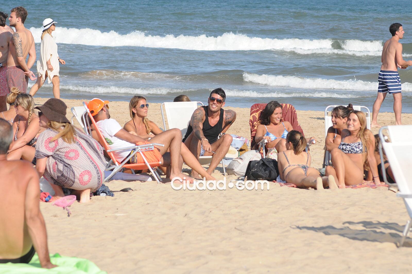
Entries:
[[[9, 43], [6, 73], [9, 89], [17, 87], [23, 93], [27, 91], [29, 76], [35, 77], [34, 73], [30, 71], [30, 68], [36, 61], [33, 35], [24, 27], [26, 18], [27, 10], [25, 8], [15, 7], [11, 10], [9, 17], [10, 26], [16, 28], [16, 32], [13, 34], [13, 39]], [[29, 57], [26, 63], [27, 54]]]

